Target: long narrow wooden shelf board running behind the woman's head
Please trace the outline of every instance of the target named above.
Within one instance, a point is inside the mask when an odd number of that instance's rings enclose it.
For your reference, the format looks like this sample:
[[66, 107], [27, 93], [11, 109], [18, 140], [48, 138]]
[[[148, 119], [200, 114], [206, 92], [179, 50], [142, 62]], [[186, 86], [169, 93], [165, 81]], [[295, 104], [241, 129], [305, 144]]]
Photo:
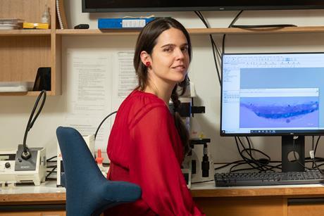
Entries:
[[[287, 33], [322, 33], [324, 26], [309, 27], [254, 27], [254, 28], [189, 28], [189, 34], [287, 34]], [[104, 35], [137, 35], [140, 30], [56, 30], [64, 36], [104, 36]]]

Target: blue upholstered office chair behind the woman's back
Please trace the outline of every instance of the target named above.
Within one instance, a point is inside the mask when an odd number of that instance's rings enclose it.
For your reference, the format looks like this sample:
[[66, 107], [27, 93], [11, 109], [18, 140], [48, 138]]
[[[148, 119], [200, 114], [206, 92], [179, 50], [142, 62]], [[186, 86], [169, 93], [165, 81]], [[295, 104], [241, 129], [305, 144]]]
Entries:
[[141, 196], [136, 184], [104, 177], [76, 129], [58, 127], [56, 136], [63, 158], [67, 216], [100, 215], [107, 208], [136, 201]]

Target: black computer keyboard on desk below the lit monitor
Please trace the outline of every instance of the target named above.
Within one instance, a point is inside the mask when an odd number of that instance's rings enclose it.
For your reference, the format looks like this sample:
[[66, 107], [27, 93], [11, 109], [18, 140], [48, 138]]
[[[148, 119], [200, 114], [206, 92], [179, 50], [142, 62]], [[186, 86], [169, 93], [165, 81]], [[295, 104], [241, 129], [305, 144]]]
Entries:
[[216, 186], [269, 186], [286, 184], [324, 184], [318, 170], [305, 172], [230, 172], [216, 173]]

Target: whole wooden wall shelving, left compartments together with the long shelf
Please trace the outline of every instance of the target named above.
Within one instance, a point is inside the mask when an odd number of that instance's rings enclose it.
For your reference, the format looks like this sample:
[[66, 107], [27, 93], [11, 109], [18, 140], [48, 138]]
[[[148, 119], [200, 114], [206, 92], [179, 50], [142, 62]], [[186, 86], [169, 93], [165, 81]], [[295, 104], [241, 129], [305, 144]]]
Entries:
[[[62, 37], [137, 36], [140, 30], [57, 29], [56, 0], [1, 0], [0, 18], [39, 23], [44, 6], [51, 12], [50, 30], [0, 30], [0, 82], [34, 82], [39, 67], [51, 67], [51, 91], [61, 94]], [[324, 33], [324, 26], [272, 28], [188, 28], [191, 35]], [[0, 93], [0, 96], [37, 96], [39, 92]]]

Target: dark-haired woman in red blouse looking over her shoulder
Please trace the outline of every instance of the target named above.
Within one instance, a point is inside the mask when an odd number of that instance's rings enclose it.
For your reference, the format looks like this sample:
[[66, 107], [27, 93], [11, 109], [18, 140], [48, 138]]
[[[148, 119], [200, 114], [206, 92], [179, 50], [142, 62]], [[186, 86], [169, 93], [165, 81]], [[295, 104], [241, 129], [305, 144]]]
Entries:
[[175, 109], [177, 86], [185, 87], [191, 59], [189, 34], [177, 20], [158, 18], [137, 39], [134, 66], [139, 86], [116, 115], [108, 141], [108, 179], [142, 188], [135, 203], [108, 210], [111, 215], [204, 215], [194, 205], [180, 165], [188, 133]]

